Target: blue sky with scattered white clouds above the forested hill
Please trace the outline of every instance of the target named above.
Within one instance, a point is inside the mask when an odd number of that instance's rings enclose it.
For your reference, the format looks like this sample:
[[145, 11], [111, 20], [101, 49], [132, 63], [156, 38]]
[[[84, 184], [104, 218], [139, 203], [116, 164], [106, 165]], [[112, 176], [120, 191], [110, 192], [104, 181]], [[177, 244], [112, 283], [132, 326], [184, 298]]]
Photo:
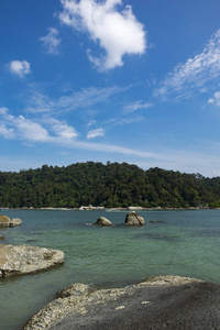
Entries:
[[220, 175], [219, 0], [1, 0], [0, 170]]

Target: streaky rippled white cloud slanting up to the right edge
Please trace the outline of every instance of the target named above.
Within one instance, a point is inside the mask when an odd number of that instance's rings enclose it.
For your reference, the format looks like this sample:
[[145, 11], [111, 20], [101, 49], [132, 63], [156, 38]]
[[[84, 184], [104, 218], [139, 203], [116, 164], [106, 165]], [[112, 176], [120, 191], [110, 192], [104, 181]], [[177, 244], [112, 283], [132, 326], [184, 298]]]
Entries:
[[209, 40], [202, 52], [186, 63], [178, 64], [154, 90], [154, 96], [166, 98], [190, 97], [195, 92], [207, 90], [205, 84], [220, 77], [220, 30]]

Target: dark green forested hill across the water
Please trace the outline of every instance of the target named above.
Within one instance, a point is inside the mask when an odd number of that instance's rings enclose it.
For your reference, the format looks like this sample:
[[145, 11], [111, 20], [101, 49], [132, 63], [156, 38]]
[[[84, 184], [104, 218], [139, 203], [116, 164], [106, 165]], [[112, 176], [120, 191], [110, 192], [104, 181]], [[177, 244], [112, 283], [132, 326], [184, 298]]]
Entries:
[[220, 207], [220, 177], [127, 163], [77, 163], [0, 172], [0, 207]]

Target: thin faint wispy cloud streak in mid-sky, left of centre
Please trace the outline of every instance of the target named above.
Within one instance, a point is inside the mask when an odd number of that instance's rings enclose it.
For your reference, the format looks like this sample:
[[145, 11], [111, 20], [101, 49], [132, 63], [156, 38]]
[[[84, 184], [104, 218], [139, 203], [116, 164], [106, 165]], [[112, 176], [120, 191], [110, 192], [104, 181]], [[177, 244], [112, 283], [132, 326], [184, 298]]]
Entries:
[[51, 99], [35, 86], [30, 87], [28, 111], [33, 113], [72, 111], [77, 108], [91, 107], [108, 101], [112, 96], [120, 95], [131, 86], [108, 88], [84, 88], [70, 95], [64, 95], [57, 99]]

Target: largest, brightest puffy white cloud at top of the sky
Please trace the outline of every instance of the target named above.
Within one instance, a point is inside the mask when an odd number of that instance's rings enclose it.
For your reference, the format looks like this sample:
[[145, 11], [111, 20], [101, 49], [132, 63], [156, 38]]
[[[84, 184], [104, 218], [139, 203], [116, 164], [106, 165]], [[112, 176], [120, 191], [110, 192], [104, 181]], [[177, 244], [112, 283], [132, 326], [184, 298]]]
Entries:
[[87, 32], [95, 43], [99, 43], [105, 54], [99, 57], [87, 54], [99, 70], [122, 66], [125, 54], [141, 55], [145, 52], [146, 41], [144, 25], [140, 23], [127, 6], [119, 11], [122, 0], [61, 0], [63, 12], [59, 19], [78, 31]]

